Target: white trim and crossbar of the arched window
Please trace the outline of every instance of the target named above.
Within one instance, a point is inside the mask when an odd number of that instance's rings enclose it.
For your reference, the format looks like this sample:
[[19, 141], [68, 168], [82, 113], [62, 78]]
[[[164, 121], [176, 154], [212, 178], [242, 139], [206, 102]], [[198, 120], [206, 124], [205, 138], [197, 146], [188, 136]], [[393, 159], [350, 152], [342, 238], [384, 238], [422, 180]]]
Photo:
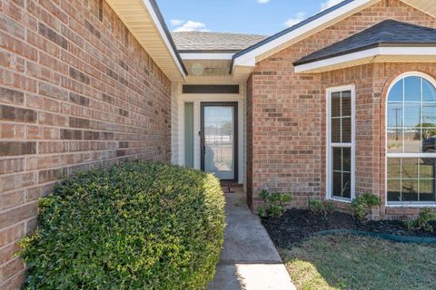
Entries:
[[[422, 201], [388, 201], [388, 159], [389, 158], [422, 158], [422, 157], [428, 157], [428, 158], [436, 158], [436, 153], [388, 153], [388, 98], [389, 94], [391, 93], [391, 89], [393, 86], [399, 82], [401, 79], [409, 77], [409, 76], [419, 76], [423, 78], [424, 80], [427, 80], [431, 82], [431, 84], [436, 88], [436, 81], [431, 78], [430, 75], [426, 73], [421, 72], [408, 72], [408, 73], [402, 73], [398, 77], [393, 80], [389, 86], [388, 92], [386, 93], [386, 100], [385, 100], [385, 128], [384, 128], [384, 150], [386, 152], [385, 159], [384, 159], [384, 189], [385, 189], [385, 205], [386, 208], [436, 208], [436, 202], [422, 202]], [[403, 88], [404, 90], [404, 88]]]

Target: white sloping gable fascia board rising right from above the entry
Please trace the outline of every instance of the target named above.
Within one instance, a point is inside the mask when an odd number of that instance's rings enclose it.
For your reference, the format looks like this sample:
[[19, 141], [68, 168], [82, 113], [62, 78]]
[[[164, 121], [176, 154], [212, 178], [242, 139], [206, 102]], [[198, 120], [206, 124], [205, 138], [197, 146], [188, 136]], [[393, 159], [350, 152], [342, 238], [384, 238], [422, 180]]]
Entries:
[[348, 5], [343, 5], [341, 8], [338, 8], [336, 10], [333, 10], [329, 14], [325, 14], [321, 16], [320, 18], [313, 20], [312, 22], [303, 25], [302, 27], [299, 27], [295, 30], [292, 30], [288, 34], [283, 34], [281, 37], [278, 37], [274, 40], [272, 40], [269, 43], [265, 43], [262, 46], [259, 46], [253, 51], [249, 53], [245, 53], [237, 58], [234, 59], [233, 66], [236, 65], [255, 65], [256, 63], [256, 57], [259, 55], [262, 55], [263, 53], [267, 53], [274, 48], [281, 46], [284, 43], [288, 43], [292, 41], [292, 39], [297, 38], [301, 36], [302, 34], [307, 34], [311, 32], [312, 30], [316, 29], [319, 26], [322, 26], [322, 24], [326, 24], [331, 22], [332, 20], [341, 17], [342, 14], [348, 14], [352, 12], [355, 9], [359, 9], [359, 7], [363, 5], [367, 5], [371, 3], [372, 0], [356, 0]]

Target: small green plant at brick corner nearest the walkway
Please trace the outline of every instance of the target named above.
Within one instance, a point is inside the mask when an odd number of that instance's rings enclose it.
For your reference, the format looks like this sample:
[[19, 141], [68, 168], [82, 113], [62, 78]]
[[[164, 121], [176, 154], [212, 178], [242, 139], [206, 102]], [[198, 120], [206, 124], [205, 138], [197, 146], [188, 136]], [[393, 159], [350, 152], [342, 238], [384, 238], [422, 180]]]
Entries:
[[259, 216], [280, 218], [284, 213], [284, 208], [291, 201], [291, 196], [287, 193], [269, 192], [266, 189], [262, 189], [260, 198], [265, 202], [268, 208], [263, 206], [258, 208]]

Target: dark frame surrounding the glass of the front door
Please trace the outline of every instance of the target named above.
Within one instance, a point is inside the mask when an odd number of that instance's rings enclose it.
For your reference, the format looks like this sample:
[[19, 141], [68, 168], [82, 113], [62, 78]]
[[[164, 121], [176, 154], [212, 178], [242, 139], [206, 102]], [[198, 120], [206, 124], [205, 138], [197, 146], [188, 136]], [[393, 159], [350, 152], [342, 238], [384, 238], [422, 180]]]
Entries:
[[204, 171], [204, 107], [213, 107], [213, 106], [221, 106], [221, 107], [233, 107], [233, 170], [234, 176], [233, 179], [221, 179], [223, 181], [238, 181], [239, 178], [239, 125], [238, 125], [238, 102], [201, 102], [200, 103], [200, 157], [201, 157], [201, 169]]

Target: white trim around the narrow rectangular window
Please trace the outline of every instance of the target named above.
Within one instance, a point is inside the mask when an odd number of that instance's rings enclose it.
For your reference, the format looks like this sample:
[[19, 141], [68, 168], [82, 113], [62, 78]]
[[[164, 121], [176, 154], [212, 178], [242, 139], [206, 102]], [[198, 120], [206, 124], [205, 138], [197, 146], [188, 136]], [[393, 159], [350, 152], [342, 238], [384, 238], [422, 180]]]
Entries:
[[[343, 92], [343, 91], [351, 91], [352, 92], [352, 143], [332, 143], [332, 123], [331, 123], [331, 115], [332, 115], [332, 93], [333, 92]], [[332, 87], [326, 90], [326, 129], [327, 129], [327, 162], [326, 162], [326, 198], [332, 199], [336, 201], [341, 201], [345, 203], [352, 202], [352, 199], [355, 198], [355, 173], [356, 173], [356, 89], [354, 84], [343, 85], [339, 87]], [[352, 148], [352, 185], [351, 185], [351, 198], [338, 198], [332, 196], [332, 145], [342, 146], [342, 147], [351, 147]]]

